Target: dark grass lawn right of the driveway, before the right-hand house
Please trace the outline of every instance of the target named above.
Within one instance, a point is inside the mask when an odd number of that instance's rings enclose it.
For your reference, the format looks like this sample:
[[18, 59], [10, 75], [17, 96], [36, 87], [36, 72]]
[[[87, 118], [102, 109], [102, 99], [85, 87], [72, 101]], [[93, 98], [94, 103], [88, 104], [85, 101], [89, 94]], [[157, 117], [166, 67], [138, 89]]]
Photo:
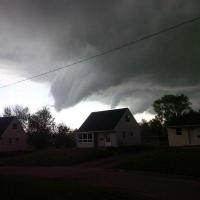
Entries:
[[134, 155], [114, 168], [200, 178], [200, 149], [159, 149]]

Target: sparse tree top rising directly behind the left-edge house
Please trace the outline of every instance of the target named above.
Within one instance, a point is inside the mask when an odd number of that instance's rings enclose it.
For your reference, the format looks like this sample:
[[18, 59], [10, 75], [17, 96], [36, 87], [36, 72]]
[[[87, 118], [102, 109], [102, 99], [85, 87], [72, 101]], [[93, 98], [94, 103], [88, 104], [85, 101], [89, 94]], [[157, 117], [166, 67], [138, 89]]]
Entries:
[[15, 116], [21, 122], [24, 130], [27, 130], [28, 120], [29, 120], [29, 108], [23, 107], [21, 105], [14, 105], [12, 107], [8, 106], [4, 108], [3, 111], [4, 117], [12, 117]]

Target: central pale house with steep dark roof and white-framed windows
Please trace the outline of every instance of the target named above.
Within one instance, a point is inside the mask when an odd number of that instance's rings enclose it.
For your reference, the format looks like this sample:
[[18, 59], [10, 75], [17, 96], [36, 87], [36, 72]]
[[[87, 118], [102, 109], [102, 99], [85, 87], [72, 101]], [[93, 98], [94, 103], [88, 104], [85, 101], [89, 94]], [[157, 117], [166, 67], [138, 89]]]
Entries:
[[77, 131], [77, 147], [118, 147], [141, 143], [139, 125], [128, 108], [93, 112]]

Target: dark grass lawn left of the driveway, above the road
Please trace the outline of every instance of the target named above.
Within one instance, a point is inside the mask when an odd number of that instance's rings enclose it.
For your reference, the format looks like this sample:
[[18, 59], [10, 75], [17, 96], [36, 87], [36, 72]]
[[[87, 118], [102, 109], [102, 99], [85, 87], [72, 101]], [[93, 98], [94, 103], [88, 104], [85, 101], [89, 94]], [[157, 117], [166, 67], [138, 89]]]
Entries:
[[1, 158], [0, 166], [70, 166], [114, 154], [114, 150], [50, 149]]

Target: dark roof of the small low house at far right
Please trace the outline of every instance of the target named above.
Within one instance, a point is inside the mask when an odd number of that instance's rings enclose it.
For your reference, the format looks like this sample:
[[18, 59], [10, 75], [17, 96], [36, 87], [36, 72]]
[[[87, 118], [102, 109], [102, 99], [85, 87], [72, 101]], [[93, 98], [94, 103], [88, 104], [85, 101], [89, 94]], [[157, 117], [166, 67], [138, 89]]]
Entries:
[[200, 113], [192, 112], [172, 119], [168, 127], [200, 127]]

